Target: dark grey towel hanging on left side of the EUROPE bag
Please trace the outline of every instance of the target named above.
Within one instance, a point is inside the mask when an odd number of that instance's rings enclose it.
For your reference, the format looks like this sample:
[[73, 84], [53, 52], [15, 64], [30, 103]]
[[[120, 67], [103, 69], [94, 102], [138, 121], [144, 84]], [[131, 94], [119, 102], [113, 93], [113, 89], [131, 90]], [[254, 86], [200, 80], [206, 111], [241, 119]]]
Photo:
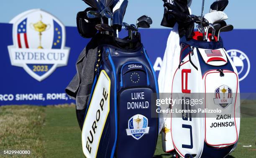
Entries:
[[77, 74], [65, 89], [70, 98], [76, 99], [77, 110], [86, 108], [94, 79], [97, 47], [89, 46], [90, 43], [79, 55], [76, 63]]

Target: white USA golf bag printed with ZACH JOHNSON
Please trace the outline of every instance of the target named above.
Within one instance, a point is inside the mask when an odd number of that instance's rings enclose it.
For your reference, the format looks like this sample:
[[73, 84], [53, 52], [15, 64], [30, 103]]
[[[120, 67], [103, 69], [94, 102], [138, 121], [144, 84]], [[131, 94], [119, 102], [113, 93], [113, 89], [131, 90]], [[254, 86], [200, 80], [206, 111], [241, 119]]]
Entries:
[[206, 42], [182, 37], [180, 47], [180, 64], [170, 81], [173, 111], [162, 129], [163, 150], [182, 158], [223, 158], [236, 147], [239, 136], [236, 67], [222, 39]]

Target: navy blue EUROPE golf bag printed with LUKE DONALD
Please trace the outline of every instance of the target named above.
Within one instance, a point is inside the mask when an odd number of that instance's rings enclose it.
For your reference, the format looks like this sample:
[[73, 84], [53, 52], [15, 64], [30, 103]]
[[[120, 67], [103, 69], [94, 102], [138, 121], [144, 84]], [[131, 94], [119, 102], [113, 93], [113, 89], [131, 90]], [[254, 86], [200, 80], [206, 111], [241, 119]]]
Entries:
[[[95, 78], [82, 127], [87, 158], [151, 158], [158, 138], [158, 84], [140, 42], [106, 36], [97, 47]], [[133, 49], [125, 45], [133, 42]]]

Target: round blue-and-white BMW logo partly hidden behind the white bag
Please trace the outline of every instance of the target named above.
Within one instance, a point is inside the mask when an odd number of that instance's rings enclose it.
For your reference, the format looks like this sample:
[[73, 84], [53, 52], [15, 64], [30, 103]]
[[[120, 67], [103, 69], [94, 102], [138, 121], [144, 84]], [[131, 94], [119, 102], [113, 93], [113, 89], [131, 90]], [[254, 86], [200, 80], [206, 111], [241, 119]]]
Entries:
[[239, 81], [242, 81], [247, 77], [247, 75], [250, 72], [250, 60], [247, 57], [247, 55], [237, 49], [231, 49], [227, 51], [230, 58], [233, 60], [238, 75], [239, 75]]

